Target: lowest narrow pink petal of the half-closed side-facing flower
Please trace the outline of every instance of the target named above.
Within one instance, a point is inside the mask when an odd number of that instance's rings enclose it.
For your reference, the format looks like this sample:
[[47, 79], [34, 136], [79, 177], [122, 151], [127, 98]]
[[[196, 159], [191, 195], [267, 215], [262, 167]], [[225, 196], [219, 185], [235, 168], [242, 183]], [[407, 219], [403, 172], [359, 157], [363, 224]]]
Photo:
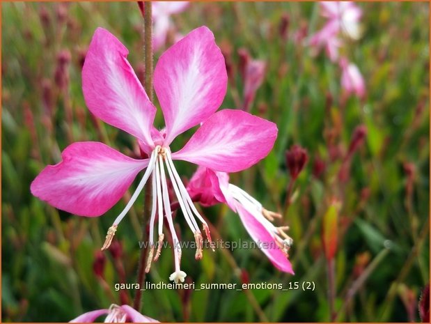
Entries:
[[263, 226], [249, 210], [246, 210], [241, 203], [235, 203], [236, 212], [240, 215], [242, 224], [249, 232], [251, 238], [258, 243], [260, 249], [266, 254], [274, 266], [284, 272], [294, 274], [292, 264], [283, 251], [276, 245], [276, 241], [271, 233]]

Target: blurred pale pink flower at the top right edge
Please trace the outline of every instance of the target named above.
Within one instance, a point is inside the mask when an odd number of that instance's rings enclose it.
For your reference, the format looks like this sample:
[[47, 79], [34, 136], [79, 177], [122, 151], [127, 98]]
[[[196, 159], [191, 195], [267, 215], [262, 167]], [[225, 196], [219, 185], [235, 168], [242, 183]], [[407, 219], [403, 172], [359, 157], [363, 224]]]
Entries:
[[324, 47], [331, 61], [338, 59], [341, 46], [340, 35], [353, 40], [361, 36], [359, 20], [361, 9], [352, 1], [321, 1], [321, 15], [327, 18], [323, 28], [308, 40], [308, 44], [319, 49]]

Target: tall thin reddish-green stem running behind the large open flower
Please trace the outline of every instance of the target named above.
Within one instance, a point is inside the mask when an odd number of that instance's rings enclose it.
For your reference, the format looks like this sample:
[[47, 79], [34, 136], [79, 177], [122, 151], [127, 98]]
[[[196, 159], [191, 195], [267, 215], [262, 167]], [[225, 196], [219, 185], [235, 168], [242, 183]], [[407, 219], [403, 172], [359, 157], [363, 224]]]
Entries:
[[[151, 2], [144, 2], [144, 55], [145, 55], [145, 82], [144, 87], [146, 93], [148, 94], [148, 98], [152, 101], [152, 8]], [[144, 197], [144, 206], [143, 206], [143, 225], [142, 225], [142, 241], [146, 242], [147, 231], [146, 231], [146, 220], [150, 218], [151, 215], [151, 201], [152, 201], [152, 183], [148, 181], [144, 187], [145, 197]], [[145, 247], [141, 249], [141, 255], [139, 256], [139, 265], [138, 265], [138, 278], [137, 282], [140, 286], [143, 286], [146, 277], [146, 259], [148, 256], [148, 248]], [[133, 308], [136, 311], [140, 311], [141, 309], [141, 299], [142, 299], [142, 291], [140, 289], [136, 290], [136, 295], [133, 300]]]

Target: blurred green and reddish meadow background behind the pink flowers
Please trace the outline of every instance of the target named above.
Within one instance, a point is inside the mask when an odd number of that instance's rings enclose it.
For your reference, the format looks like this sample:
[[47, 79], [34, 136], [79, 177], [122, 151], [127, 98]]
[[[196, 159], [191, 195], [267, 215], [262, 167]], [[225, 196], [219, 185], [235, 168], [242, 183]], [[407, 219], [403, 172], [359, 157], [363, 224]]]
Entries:
[[[315, 291], [146, 291], [143, 314], [159, 321], [420, 321], [418, 299], [430, 272], [429, 5], [358, 6], [362, 36], [346, 40], [341, 51], [366, 81], [363, 100], [340, 87], [337, 64], [306, 46], [325, 21], [317, 3], [190, 3], [171, 16], [168, 44], [155, 52], [155, 63], [177, 33], [208, 26], [228, 65], [221, 108], [242, 105], [244, 49], [267, 63], [251, 113], [277, 123], [279, 137], [265, 160], [231, 175], [231, 183], [282, 212], [292, 180], [285, 152], [295, 144], [308, 152], [283, 215], [294, 239], [295, 276], [277, 271], [258, 249], [205, 251], [199, 262], [187, 249], [182, 270], [196, 284], [314, 281]], [[127, 197], [103, 217], [87, 219], [39, 201], [29, 185], [74, 141], [136, 152], [132, 137], [89, 114], [81, 65], [103, 26], [130, 50], [142, 79], [141, 12], [135, 2], [16, 2], [2, 3], [1, 18], [2, 321], [70, 321], [131, 303], [134, 291], [119, 293], [113, 284], [136, 282], [143, 198], [122, 222], [113, 249], [101, 254]], [[162, 123], [159, 111], [156, 124]], [[189, 177], [195, 169], [178, 163], [178, 171]], [[250, 240], [225, 206], [201, 209], [217, 228], [213, 238]], [[193, 240], [177, 219], [182, 240]], [[324, 249], [329, 245], [334, 261]], [[166, 250], [147, 279], [168, 282], [172, 268]]]

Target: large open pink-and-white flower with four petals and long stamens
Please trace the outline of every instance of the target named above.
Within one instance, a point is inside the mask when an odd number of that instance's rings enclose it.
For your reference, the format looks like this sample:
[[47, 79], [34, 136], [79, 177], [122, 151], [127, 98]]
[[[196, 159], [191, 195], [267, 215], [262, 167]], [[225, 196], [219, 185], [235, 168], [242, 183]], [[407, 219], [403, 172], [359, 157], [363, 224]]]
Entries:
[[[166, 128], [152, 123], [156, 108], [127, 61], [128, 51], [107, 30], [95, 31], [82, 69], [82, 89], [91, 113], [138, 139], [149, 158], [135, 160], [98, 142], [71, 144], [62, 153], [63, 161], [47, 166], [31, 184], [31, 192], [56, 208], [81, 216], [100, 216], [125, 194], [139, 171], [146, 169], [132, 198], [109, 228], [102, 249], [107, 249], [118, 224], [136, 201], [151, 176], [150, 254], [157, 260], [164, 240], [163, 217], [173, 238], [175, 272], [169, 279], [184, 281], [180, 269], [181, 248], [171, 216], [166, 177], [185, 220], [196, 238], [196, 259], [202, 258], [203, 236], [196, 219], [210, 240], [205, 219], [198, 213], [182, 184], [173, 160], [185, 160], [217, 171], [244, 170], [269, 153], [276, 139], [274, 123], [244, 111], [215, 111], [226, 95], [227, 74], [224, 57], [214, 35], [202, 26], [160, 56], [154, 71], [154, 88]], [[201, 124], [178, 152], [169, 148], [173, 139]], [[166, 174], [166, 171], [167, 174]], [[155, 247], [155, 219], [158, 215], [158, 248]]]

